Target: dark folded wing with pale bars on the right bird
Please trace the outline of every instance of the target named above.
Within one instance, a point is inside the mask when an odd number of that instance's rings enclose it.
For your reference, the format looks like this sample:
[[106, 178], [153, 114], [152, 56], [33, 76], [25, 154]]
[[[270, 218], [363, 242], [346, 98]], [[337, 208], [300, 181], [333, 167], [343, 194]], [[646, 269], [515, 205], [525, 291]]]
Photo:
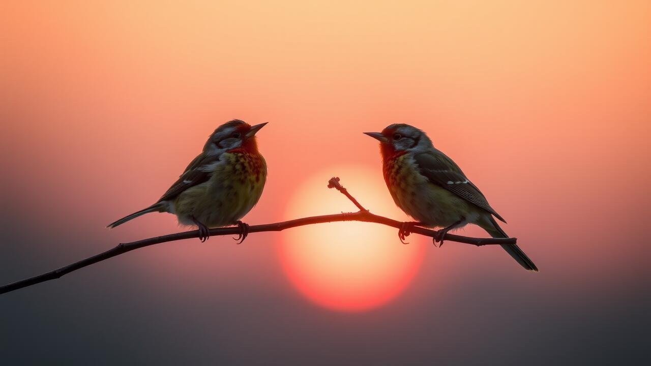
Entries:
[[443, 154], [443, 152], [434, 149], [434, 152], [415, 154], [413, 158], [421, 174], [426, 176], [430, 182], [449, 190], [462, 199], [465, 199], [465, 201], [483, 208], [496, 218], [506, 222], [488, 204], [486, 197], [484, 197], [479, 188], [468, 180], [461, 168], [447, 155]]

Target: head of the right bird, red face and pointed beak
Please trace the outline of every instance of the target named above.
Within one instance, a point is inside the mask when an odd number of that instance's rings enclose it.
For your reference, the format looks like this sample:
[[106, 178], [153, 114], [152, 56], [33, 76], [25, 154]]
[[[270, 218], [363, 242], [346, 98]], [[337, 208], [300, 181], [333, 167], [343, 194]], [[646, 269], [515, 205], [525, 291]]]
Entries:
[[380, 141], [383, 158], [432, 148], [432, 140], [424, 132], [409, 124], [390, 124], [382, 132], [365, 132], [365, 134]]

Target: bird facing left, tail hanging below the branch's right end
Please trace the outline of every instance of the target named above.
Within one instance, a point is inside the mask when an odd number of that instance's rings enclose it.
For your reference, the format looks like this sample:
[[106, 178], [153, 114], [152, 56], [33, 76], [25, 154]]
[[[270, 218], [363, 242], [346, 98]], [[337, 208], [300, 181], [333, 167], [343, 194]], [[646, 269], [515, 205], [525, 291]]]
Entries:
[[[508, 238], [495, 218], [506, 223], [488, 204], [484, 194], [447, 155], [434, 147], [419, 128], [404, 123], [382, 132], [365, 132], [380, 141], [382, 171], [396, 205], [418, 221], [404, 225], [398, 236], [409, 235], [410, 225], [442, 227], [434, 242], [452, 229], [474, 223], [493, 238]], [[538, 272], [536, 265], [515, 244], [502, 247], [523, 268]]]

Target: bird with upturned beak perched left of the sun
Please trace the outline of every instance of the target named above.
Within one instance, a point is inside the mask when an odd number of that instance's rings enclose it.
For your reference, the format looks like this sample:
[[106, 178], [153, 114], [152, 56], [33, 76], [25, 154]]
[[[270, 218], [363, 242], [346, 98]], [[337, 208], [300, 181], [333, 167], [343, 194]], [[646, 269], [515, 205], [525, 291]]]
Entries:
[[265, 124], [251, 126], [238, 119], [222, 124], [156, 203], [108, 227], [149, 212], [169, 212], [182, 225], [197, 225], [202, 242], [210, 236], [208, 227], [236, 224], [241, 230], [238, 240], [243, 241], [248, 225], [239, 220], [258, 203], [267, 178], [267, 165], [255, 137]]

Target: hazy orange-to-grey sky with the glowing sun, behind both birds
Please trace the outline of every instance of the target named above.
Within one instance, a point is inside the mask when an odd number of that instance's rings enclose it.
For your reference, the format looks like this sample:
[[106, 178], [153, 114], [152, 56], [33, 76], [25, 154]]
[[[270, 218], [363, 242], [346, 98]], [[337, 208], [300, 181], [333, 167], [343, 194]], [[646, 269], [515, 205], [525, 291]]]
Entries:
[[648, 363], [650, 24], [648, 1], [3, 3], [0, 282], [180, 231], [105, 225], [234, 118], [270, 122], [248, 223], [354, 210], [333, 175], [408, 219], [361, 134], [405, 122], [540, 273], [363, 223], [159, 244], [0, 296], [0, 359]]

